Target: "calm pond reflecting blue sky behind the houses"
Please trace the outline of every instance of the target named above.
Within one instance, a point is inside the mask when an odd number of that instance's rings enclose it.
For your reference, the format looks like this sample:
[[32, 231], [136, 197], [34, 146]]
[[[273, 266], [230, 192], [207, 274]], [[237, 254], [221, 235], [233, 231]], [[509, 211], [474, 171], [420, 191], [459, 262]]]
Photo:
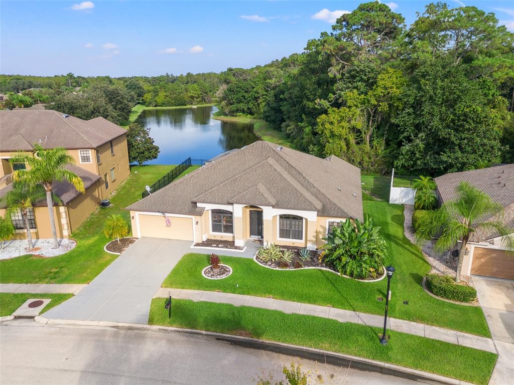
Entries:
[[253, 124], [213, 119], [217, 110], [212, 106], [143, 110], [136, 123], [150, 127], [150, 136], [160, 148], [159, 157], [146, 164], [178, 164], [188, 157], [211, 159], [259, 140]]

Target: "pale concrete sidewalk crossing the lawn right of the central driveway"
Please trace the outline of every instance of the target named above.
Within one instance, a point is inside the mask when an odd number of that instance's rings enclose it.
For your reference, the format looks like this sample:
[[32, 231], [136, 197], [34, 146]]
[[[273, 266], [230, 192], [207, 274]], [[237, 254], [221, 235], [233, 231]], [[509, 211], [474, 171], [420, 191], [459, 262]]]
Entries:
[[[375, 314], [358, 313], [351, 310], [336, 309], [335, 307], [312, 305], [307, 303], [283, 301], [280, 299], [254, 297], [240, 294], [207, 292], [201, 290], [187, 290], [161, 287], [154, 298], [189, 299], [195, 302], [206, 301], [216, 303], [229, 303], [235, 306], [260, 307], [261, 309], [277, 310], [287, 314], [304, 314], [322, 318], [335, 319], [339, 322], [352, 322], [376, 328], [383, 327], [383, 317]], [[388, 329], [396, 332], [414, 334], [421, 337], [445, 341], [456, 345], [498, 353], [494, 342], [490, 338], [476, 336], [455, 330], [439, 328], [388, 317]]]

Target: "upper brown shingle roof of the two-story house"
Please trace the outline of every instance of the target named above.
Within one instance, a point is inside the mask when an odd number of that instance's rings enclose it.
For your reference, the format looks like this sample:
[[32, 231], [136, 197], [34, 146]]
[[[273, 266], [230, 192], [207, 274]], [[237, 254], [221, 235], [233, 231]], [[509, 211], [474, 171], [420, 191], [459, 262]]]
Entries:
[[96, 148], [126, 130], [104, 118], [82, 120], [54, 110], [0, 110], [0, 151]]

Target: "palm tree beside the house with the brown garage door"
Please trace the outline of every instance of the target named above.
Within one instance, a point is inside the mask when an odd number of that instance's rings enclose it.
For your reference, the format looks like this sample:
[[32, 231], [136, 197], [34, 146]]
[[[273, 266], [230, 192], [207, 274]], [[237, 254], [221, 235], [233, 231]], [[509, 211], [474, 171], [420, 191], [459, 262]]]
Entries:
[[503, 206], [494, 202], [485, 192], [468, 182], [461, 182], [456, 192], [457, 198], [454, 201], [444, 203], [437, 210], [427, 211], [426, 215], [419, 218], [416, 239], [423, 241], [438, 236], [434, 249], [439, 252], [462, 241], [455, 274], [455, 281], [460, 282], [464, 253], [473, 233], [480, 229], [495, 230], [512, 249], [514, 238], [509, 234], [514, 233], [514, 229], [503, 224]]

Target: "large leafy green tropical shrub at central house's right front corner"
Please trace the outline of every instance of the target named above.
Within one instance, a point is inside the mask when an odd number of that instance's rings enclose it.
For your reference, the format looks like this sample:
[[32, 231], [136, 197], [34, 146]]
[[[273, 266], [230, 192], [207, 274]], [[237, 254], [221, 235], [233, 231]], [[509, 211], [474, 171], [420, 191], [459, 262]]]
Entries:
[[380, 226], [373, 226], [367, 217], [364, 222], [358, 219], [342, 222], [334, 227], [323, 240], [320, 259], [333, 266], [339, 274], [353, 278], [368, 278], [380, 275], [383, 271], [387, 245], [379, 235]]

